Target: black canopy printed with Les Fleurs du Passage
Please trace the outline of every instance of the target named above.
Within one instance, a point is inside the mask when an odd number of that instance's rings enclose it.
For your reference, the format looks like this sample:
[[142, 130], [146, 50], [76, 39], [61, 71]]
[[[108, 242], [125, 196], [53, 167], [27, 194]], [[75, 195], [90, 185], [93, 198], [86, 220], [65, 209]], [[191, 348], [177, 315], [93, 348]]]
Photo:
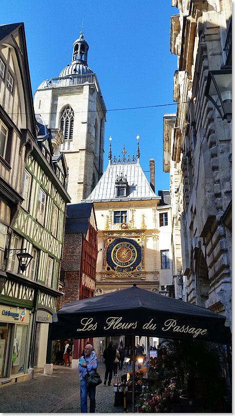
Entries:
[[230, 343], [225, 316], [132, 287], [67, 303], [53, 315], [50, 339], [139, 335]]

